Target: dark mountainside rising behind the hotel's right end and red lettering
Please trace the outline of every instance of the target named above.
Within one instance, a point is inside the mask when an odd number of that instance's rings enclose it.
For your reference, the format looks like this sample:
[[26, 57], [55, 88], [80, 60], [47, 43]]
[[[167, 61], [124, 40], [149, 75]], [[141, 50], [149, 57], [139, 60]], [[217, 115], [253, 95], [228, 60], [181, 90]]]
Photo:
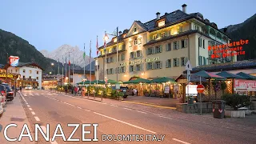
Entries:
[[[221, 29], [222, 31], [225, 28]], [[238, 61], [256, 58], [256, 14], [237, 25], [226, 26], [226, 34], [231, 38], [231, 42], [240, 39], [248, 39], [249, 44], [242, 47], [246, 51], [245, 55], [238, 55]]]

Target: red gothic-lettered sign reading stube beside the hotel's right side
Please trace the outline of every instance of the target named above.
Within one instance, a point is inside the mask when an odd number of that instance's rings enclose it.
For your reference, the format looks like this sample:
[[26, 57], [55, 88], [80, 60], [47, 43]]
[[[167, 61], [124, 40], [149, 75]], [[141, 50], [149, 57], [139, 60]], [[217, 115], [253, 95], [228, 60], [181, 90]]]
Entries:
[[238, 42], [231, 42], [223, 45], [208, 46], [208, 50], [213, 50], [211, 58], [226, 58], [234, 55], [245, 55], [246, 52], [242, 50], [242, 46], [249, 43], [249, 40], [240, 40]]

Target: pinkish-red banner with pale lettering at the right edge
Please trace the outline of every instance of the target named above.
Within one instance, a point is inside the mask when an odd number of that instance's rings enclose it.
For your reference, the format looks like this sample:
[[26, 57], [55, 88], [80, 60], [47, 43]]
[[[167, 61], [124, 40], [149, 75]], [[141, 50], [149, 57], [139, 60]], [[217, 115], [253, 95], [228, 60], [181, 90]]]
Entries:
[[256, 81], [234, 79], [234, 90], [236, 91], [256, 91]]

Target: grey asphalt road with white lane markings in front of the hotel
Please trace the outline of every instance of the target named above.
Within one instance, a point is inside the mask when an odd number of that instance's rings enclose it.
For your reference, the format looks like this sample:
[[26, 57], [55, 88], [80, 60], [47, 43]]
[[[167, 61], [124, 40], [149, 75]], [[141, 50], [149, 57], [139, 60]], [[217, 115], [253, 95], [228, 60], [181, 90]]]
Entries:
[[[97, 139], [96, 143], [256, 143], [254, 133], [194, 123], [46, 90], [23, 90], [21, 98], [31, 127], [34, 129], [34, 124], [38, 123], [46, 132], [49, 124], [50, 139], [58, 124], [66, 140], [74, 126], [79, 126], [72, 138], [78, 138], [80, 142], [64, 142], [62, 136], [56, 137], [54, 142], [46, 142], [39, 133], [38, 143], [82, 143], [82, 135], [91, 141]], [[68, 123], [74, 125], [67, 126]], [[89, 124], [83, 131], [90, 131], [90, 134], [82, 134], [82, 124]], [[94, 130], [97, 134], [94, 134]], [[34, 134], [34, 130], [31, 131]], [[106, 140], [106, 135], [110, 141]]]

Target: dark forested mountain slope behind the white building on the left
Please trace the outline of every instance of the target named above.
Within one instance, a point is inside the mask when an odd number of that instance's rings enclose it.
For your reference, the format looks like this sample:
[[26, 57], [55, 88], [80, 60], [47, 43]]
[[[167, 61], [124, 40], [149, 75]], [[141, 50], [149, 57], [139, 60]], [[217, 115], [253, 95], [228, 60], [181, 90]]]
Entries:
[[20, 62], [36, 62], [42, 66], [45, 73], [56, 71], [57, 66], [52, 67], [50, 63], [54, 62], [53, 59], [46, 58], [34, 46], [26, 40], [12, 34], [8, 31], [0, 29], [0, 63], [6, 64], [8, 56], [14, 55], [20, 58]]

